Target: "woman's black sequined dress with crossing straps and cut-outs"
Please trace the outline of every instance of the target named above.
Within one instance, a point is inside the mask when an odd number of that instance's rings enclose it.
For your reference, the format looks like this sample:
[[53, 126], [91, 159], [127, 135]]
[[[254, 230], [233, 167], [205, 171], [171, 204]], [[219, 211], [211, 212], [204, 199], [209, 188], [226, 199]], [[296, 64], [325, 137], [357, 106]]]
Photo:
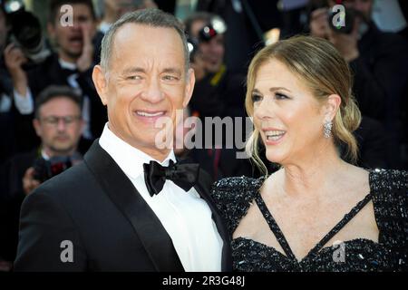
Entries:
[[[219, 180], [212, 190], [220, 212], [226, 218], [230, 235], [256, 202], [285, 255], [273, 247], [246, 237], [232, 239], [236, 271], [407, 271], [408, 270], [408, 172], [375, 169], [369, 173], [370, 193], [360, 201], [301, 260], [297, 261], [282, 231], [260, 196], [264, 178], [247, 177]], [[339, 247], [324, 247], [364, 206], [373, 200], [374, 216], [380, 234], [378, 243], [364, 238], [345, 241], [345, 255], [335, 258]]]

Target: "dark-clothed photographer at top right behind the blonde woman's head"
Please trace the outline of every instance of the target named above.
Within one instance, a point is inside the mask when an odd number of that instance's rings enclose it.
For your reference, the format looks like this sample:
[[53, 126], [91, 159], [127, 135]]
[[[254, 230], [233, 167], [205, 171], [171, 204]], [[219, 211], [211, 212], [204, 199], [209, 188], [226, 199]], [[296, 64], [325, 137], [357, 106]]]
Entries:
[[335, 1], [311, 1], [310, 34], [328, 39], [350, 64], [358, 106], [365, 116], [383, 123], [389, 140], [389, 168], [401, 168], [408, 44], [400, 35], [377, 28], [371, 18], [373, 0], [347, 0], [342, 4], [345, 27], [337, 29], [330, 17]]

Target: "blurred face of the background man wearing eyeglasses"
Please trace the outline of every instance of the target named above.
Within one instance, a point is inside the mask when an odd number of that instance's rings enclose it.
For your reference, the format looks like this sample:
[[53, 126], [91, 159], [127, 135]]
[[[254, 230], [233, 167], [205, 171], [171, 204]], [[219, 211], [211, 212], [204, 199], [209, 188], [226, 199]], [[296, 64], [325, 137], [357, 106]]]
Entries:
[[48, 154], [70, 154], [83, 131], [80, 107], [67, 97], [53, 98], [40, 107], [34, 128]]

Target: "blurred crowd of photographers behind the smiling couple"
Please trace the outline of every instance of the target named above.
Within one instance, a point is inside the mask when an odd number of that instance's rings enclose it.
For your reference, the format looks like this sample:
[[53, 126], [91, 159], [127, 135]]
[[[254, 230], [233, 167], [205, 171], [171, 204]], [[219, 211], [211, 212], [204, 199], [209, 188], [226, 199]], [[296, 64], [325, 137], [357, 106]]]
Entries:
[[[129, 11], [157, 7], [174, 14], [178, 2], [50, 0], [46, 27], [22, 1], [0, 2], [1, 271], [15, 258], [24, 197], [44, 180], [81, 162], [102, 133], [107, 113], [93, 86], [92, 68], [100, 62], [103, 34]], [[338, 4], [344, 5], [345, 25], [333, 8]], [[72, 7], [72, 19], [64, 5]], [[245, 118], [251, 57], [274, 37], [311, 34], [333, 43], [353, 71], [354, 95], [363, 114], [355, 131], [358, 165], [408, 169], [405, 1], [200, 0], [185, 16], [180, 21], [191, 44], [190, 63], [196, 75], [185, 117]], [[386, 27], [396, 18], [401, 24]], [[233, 127], [244, 129], [245, 123]], [[225, 140], [222, 144], [211, 140], [211, 145], [179, 149], [177, 155], [199, 162], [214, 180], [260, 174], [248, 160], [237, 159], [239, 149], [228, 148]], [[340, 154], [343, 150], [339, 148]], [[269, 167], [276, 169], [274, 164]]]

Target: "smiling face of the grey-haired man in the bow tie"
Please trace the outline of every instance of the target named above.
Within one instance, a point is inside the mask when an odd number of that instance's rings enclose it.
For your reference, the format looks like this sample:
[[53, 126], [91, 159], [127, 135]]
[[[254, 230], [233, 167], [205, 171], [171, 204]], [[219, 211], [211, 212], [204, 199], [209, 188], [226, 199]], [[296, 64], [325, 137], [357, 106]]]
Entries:
[[106, 73], [100, 66], [93, 82], [108, 107], [109, 127], [121, 140], [151, 156], [162, 155], [155, 123], [168, 117], [174, 133], [176, 111], [187, 106], [194, 73], [186, 73], [180, 35], [171, 28], [124, 24], [116, 33]]

